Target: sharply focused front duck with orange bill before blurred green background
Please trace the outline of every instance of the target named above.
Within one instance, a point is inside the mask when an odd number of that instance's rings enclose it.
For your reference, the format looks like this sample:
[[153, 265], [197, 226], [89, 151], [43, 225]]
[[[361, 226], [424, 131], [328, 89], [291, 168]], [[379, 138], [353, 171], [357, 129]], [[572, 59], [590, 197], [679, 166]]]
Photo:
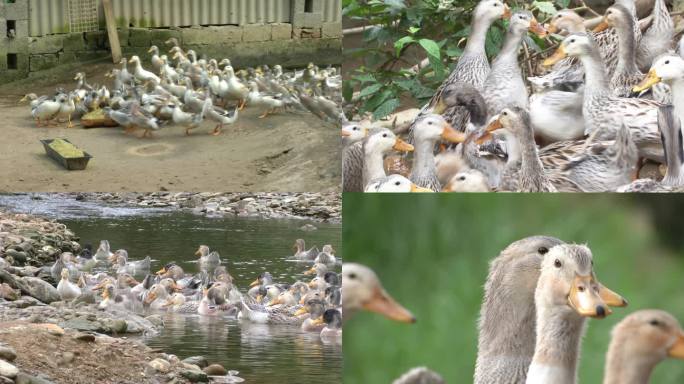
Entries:
[[581, 338], [587, 318], [604, 319], [627, 301], [602, 285], [591, 250], [578, 244], [551, 248], [541, 262], [535, 289], [536, 343], [527, 384], [577, 382]]

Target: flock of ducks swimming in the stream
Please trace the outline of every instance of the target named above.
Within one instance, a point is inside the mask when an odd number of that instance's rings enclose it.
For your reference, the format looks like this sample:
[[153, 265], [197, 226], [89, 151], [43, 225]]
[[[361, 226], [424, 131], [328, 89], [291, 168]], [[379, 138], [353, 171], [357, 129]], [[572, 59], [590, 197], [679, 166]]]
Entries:
[[[330, 245], [320, 251], [316, 247], [307, 250], [303, 239], [293, 249], [293, 260], [313, 263], [303, 273], [308, 281], [277, 283], [269, 272], [263, 272], [246, 292], [236, 286], [219, 253], [206, 245], [195, 253], [199, 273], [194, 275], [175, 262], [152, 274], [149, 256], [129, 260], [125, 249], [111, 252], [107, 240], [100, 242], [94, 254], [88, 247], [78, 256], [63, 253], [51, 274], [58, 281], [61, 299], [69, 303], [90, 296], [105, 311], [167, 311], [287, 324], [320, 333], [325, 342], [341, 342], [341, 279], [334, 271], [335, 250]], [[144, 278], [138, 281], [136, 276]], [[100, 292], [99, 298], [95, 292]]]

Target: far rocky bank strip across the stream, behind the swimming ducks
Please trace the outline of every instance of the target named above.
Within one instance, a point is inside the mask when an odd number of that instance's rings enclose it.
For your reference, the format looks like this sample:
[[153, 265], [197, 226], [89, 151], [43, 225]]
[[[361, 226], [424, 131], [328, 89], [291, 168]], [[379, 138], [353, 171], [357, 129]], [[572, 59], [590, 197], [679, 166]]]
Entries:
[[339, 223], [342, 195], [330, 193], [78, 193], [67, 194], [81, 201], [108, 205], [187, 209], [196, 214], [258, 217], [263, 219], [308, 219]]

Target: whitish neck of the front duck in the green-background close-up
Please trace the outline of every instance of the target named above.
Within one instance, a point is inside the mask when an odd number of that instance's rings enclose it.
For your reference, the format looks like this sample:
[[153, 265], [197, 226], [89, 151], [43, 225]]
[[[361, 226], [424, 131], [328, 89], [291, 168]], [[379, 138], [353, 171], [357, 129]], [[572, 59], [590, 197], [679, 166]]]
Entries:
[[585, 319], [571, 308], [537, 306], [537, 345], [527, 382], [574, 384]]

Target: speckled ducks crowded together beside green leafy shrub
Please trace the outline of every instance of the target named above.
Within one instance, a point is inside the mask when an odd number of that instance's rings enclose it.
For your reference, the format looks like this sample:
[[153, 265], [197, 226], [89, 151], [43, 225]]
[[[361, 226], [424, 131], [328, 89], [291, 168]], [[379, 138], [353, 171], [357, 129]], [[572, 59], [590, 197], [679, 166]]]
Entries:
[[[486, 35], [501, 18], [508, 31], [490, 65]], [[544, 27], [528, 11], [481, 0], [463, 54], [406, 141], [343, 125], [344, 191], [682, 191], [684, 40], [674, 44], [665, 0], [644, 20], [634, 0], [616, 0], [593, 31], [587, 24], [564, 9]], [[562, 41], [542, 63], [548, 73], [524, 79], [528, 32]], [[412, 164], [393, 152], [413, 152]], [[661, 164], [662, 179], [639, 178], [647, 160]]]

